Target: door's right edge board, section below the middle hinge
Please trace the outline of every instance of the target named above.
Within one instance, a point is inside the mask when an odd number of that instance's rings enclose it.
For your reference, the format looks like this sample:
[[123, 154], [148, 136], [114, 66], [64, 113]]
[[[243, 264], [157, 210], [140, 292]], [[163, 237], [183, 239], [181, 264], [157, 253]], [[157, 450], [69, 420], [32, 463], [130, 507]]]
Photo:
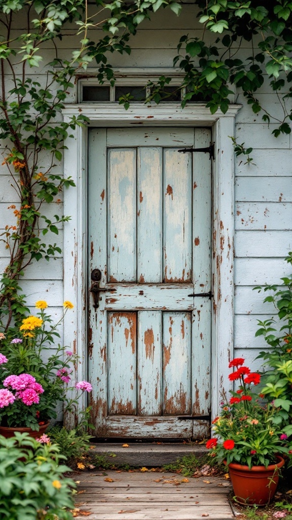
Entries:
[[207, 415], [211, 401], [211, 302], [209, 298], [195, 298], [194, 300], [195, 308], [192, 322], [192, 414]]

